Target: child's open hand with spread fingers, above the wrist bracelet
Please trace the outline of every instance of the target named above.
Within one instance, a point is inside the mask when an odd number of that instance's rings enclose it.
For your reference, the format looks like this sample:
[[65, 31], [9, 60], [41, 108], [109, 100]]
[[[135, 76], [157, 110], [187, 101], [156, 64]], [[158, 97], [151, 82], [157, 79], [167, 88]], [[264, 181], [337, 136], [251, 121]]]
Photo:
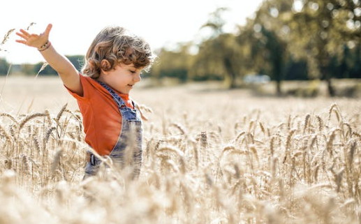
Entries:
[[40, 48], [49, 38], [50, 30], [52, 29], [52, 24], [48, 24], [45, 31], [40, 34], [28, 33], [24, 29], [20, 29], [20, 32], [17, 32], [16, 35], [20, 36], [22, 40], [15, 40], [17, 43], [23, 43], [30, 47]]

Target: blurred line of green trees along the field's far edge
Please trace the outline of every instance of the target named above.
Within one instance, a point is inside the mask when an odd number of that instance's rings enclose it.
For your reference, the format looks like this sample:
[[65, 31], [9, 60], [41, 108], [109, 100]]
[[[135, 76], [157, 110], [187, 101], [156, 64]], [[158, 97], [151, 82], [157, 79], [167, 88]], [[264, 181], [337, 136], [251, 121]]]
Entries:
[[[246, 74], [266, 74], [281, 94], [283, 80], [324, 80], [334, 96], [333, 78], [361, 78], [360, 0], [266, 0], [237, 31], [224, 31], [227, 8], [217, 8], [200, 27], [202, 40], [157, 50], [149, 77], [181, 82], [223, 80], [229, 88]], [[68, 56], [80, 69], [84, 57]], [[43, 64], [21, 65], [25, 74]], [[9, 64], [0, 59], [0, 74]], [[41, 74], [55, 74], [47, 66]]]

